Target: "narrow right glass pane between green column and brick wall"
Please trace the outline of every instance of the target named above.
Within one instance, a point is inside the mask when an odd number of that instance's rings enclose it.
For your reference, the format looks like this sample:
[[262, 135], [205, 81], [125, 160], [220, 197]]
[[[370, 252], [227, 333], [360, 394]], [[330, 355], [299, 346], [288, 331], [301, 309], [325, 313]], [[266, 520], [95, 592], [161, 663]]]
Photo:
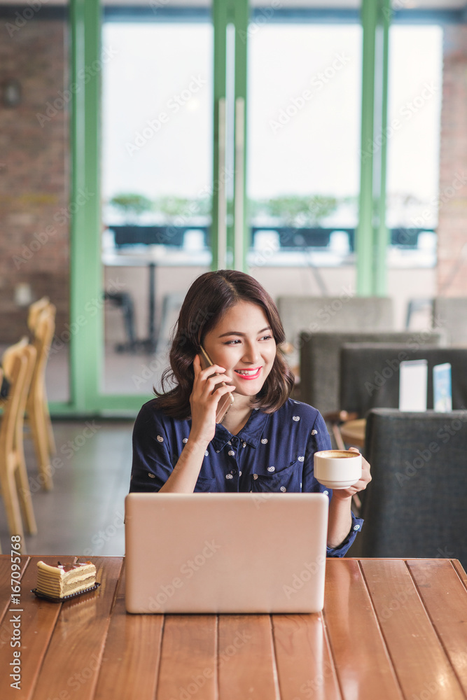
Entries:
[[393, 25], [386, 134], [388, 279], [398, 325], [412, 328], [431, 328], [428, 300], [436, 295], [441, 102], [442, 28]]

